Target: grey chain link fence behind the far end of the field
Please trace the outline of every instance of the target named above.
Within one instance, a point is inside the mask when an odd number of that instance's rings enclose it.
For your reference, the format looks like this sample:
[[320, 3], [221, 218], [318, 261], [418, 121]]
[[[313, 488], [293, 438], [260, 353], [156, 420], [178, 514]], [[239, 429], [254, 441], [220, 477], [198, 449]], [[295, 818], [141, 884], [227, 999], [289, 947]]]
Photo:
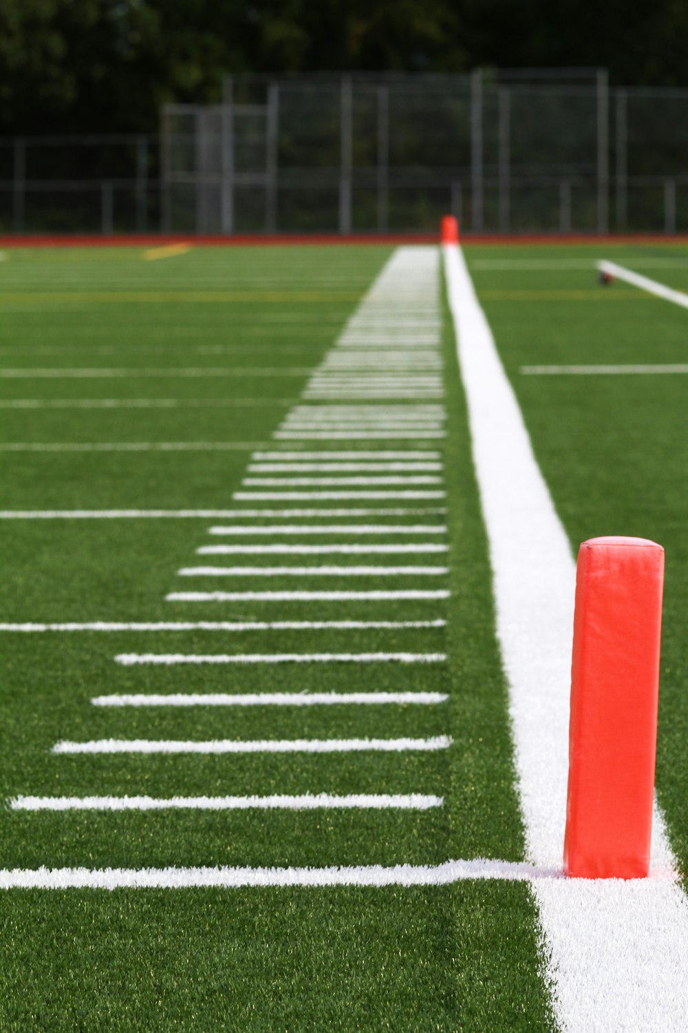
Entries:
[[236, 75], [160, 134], [0, 140], [0, 231], [688, 232], [686, 116], [603, 69]]

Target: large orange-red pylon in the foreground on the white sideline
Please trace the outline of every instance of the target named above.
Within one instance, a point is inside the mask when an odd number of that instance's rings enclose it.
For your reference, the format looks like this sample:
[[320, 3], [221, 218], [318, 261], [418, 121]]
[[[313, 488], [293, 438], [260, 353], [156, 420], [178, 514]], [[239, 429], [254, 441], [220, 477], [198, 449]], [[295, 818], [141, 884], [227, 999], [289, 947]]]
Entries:
[[591, 538], [576, 577], [564, 872], [650, 870], [664, 550]]

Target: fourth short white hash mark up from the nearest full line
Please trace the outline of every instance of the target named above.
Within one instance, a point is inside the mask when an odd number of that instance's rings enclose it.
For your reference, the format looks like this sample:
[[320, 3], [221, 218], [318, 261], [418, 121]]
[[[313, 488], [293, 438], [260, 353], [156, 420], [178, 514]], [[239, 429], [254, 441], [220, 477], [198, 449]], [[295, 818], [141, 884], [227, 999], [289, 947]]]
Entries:
[[445, 663], [446, 653], [120, 653], [114, 662], [124, 667], [179, 663]]

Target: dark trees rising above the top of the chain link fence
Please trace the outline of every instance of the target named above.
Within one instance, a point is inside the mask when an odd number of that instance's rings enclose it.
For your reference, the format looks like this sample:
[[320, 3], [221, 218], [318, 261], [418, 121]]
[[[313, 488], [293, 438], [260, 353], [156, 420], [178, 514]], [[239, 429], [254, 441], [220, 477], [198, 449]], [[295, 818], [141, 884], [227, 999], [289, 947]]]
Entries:
[[686, 39], [682, 0], [0, 0], [0, 132], [155, 131], [228, 72], [601, 65], [682, 86]]

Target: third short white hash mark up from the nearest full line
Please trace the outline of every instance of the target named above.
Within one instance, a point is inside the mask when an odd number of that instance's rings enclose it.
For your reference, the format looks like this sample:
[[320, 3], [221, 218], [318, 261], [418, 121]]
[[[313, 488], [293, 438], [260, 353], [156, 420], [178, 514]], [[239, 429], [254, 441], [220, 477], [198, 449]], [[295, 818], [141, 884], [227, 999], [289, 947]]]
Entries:
[[418, 705], [433, 707], [447, 702], [441, 692], [172, 692], [122, 693], [94, 696], [94, 707], [378, 707], [381, 705]]

